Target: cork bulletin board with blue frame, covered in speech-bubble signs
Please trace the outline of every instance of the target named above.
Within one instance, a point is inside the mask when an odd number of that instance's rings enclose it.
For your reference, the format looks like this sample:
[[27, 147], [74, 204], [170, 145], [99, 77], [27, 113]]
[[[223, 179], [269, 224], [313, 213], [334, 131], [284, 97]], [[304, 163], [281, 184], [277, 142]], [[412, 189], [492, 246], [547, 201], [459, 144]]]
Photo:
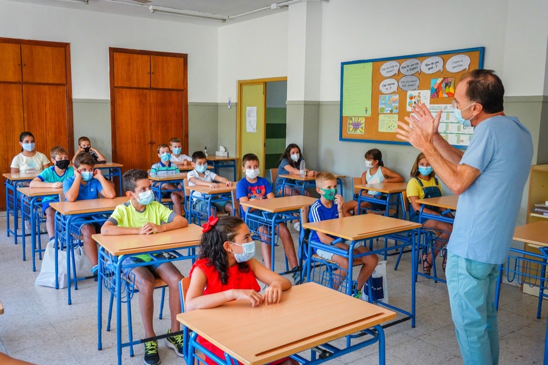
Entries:
[[341, 141], [407, 144], [396, 138], [397, 122], [414, 104], [442, 110], [439, 133], [466, 147], [473, 128], [463, 128], [451, 105], [461, 75], [483, 68], [484, 47], [341, 62]]

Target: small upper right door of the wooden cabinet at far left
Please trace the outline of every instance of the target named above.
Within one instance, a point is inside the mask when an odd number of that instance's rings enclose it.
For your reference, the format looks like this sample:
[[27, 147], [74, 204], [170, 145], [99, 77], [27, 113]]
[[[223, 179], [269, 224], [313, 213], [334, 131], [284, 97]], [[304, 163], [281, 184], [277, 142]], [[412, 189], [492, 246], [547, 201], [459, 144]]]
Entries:
[[66, 84], [64, 47], [21, 44], [23, 82]]

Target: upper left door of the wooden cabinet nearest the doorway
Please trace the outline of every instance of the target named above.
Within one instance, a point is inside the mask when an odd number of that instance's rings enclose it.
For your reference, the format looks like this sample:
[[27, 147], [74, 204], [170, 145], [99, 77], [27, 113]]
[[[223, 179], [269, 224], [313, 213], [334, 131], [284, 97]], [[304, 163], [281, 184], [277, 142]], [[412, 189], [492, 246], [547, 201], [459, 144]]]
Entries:
[[150, 56], [115, 52], [115, 87], [150, 88]]

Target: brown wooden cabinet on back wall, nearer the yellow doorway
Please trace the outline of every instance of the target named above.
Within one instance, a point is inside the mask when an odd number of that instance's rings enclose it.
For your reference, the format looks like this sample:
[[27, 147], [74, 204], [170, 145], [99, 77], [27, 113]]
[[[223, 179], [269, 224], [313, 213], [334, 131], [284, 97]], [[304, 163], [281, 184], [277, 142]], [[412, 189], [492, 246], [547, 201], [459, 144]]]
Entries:
[[150, 169], [178, 137], [188, 151], [186, 54], [111, 48], [112, 159]]

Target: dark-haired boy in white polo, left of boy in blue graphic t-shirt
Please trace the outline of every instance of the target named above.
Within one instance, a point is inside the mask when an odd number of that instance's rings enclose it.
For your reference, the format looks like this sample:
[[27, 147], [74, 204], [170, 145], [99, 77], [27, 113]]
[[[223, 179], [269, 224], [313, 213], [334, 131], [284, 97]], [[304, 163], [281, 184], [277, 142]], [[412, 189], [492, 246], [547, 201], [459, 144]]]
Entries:
[[[214, 172], [207, 169], [207, 156], [203, 151], [196, 151], [192, 153], [192, 167], [194, 168], [189, 172], [186, 177], [189, 179], [189, 186], [194, 185], [203, 185], [210, 187], [219, 187], [218, 184], [215, 184], [215, 181], [225, 184], [226, 186], [232, 186], [232, 181], [223, 178], [215, 174]], [[192, 193], [192, 196], [201, 197], [202, 193], [195, 191]], [[215, 207], [221, 212], [229, 213], [232, 215], [232, 202], [221, 202], [216, 203]], [[213, 215], [208, 212], [208, 215]]]

